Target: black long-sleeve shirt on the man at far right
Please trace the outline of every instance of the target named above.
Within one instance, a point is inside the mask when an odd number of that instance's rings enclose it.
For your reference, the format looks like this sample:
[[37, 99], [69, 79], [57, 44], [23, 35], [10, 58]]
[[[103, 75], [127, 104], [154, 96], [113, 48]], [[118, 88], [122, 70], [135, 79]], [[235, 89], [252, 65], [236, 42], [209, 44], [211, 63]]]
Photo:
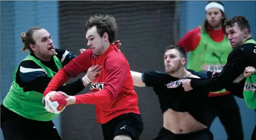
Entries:
[[209, 79], [192, 79], [191, 87], [209, 92], [219, 91], [233, 82], [248, 66], [256, 67], [256, 46], [254, 43], [245, 43], [234, 48], [220, 74]]

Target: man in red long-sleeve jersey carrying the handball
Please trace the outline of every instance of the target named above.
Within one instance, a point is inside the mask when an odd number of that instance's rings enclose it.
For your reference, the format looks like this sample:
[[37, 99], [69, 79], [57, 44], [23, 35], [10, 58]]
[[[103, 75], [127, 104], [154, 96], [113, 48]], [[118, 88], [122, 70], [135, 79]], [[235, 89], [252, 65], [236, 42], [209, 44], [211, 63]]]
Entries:
[[44, 96], [89, 67], [102, 66], [93, 81], [85, 78], [87, 84], [91, 82], [90, 89], [93, 92], [76, 96], [64, 94], [67, 104], [96, 105], [96, 119], [102, 126], [104, 140], [139, 140], [143, 122], [130, 67], [121, 51], [111, 44], [117, 34], [114, 17], [91, 16], [85, 24], [85, 32], [90, 49], [60, 69], [46, 88]]

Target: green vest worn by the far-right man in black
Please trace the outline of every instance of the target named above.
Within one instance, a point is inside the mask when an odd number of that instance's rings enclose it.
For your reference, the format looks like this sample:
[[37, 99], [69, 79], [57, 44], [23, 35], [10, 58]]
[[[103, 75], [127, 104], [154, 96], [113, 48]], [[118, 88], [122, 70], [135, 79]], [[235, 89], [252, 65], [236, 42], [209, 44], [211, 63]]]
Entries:
[[[254, 43], [255, 40], [250, 39], [245, 43]], [[246, 78], [243, 96], [248, 108], [256, 109], [256, 73]]]

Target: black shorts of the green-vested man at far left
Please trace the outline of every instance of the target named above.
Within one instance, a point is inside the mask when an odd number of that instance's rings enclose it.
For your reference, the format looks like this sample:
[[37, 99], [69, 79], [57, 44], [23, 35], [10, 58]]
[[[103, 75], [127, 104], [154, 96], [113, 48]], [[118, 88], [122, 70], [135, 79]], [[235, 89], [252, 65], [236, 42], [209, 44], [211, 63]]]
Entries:
[[5, 140], [61, 140], [52, 121], [24, 118], [1, 105], [1, 129]]

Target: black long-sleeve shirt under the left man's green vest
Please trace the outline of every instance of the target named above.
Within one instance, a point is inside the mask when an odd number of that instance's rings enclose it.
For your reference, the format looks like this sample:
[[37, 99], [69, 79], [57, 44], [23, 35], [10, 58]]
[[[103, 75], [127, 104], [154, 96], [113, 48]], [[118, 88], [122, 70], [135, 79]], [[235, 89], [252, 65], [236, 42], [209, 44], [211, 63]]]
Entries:
[[[56, 57], [60, 60], [63, 67], [76, 57], [75, 54], [67, 50], [55, 49], [55, 51], [57, 52]], [[34, 54], [30, 55], [36, 59], [39, 59]], [[54, 59], [47, 62], [40, 60], [40, 62], [46, 67], [50, 68], [52, 71], [56, 73], [58, 72]], [[44, 94], [44, 90], [51, 80], [52, 78], [49, 78], [42, 68], [32, 60], [22, 61], [16, 73], [16, 83], [23, 88], [24, 92], [35, 91]], [[81, 92], [83, 89], [84, 85], [82, 83], [82, 79], [80, 78], [73, 83], [59, 87], [57, 91], [65, 92], [68, 95], [75, 95]]]

